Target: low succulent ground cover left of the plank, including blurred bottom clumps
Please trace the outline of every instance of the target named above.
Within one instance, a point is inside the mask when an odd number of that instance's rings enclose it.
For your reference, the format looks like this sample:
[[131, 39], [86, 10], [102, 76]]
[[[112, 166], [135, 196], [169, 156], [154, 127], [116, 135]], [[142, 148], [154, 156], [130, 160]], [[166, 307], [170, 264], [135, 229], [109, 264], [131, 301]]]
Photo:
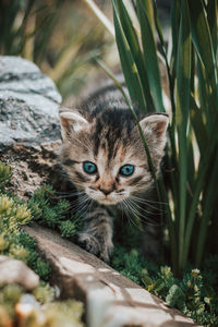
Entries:
[[[55, 202], [50, 186], [38, 190], [27, 203], [12, 192], [7, 192], [5, 185], [11, 177], [11, 169], [0, 161], [0, 254], [25, 262], [39, 275], [40, 284], [33, 291], [33, 295], [36, 301], [46, 304], [44, 307], [37, 306], [37, 311], [33, 308], [25, 326], [83, 326], [83, 305], [80, 302], [53, 302], [55, 289], [47, 282], [50, 278], [50, 266], [37, 253], [34, 239], [21, 229], [22, 225], [36, 219], [53, 228], [60, 226], [66, 235], [69, 222], [68, 226], [61, 223], [70, 210], [70, 203]], [[72, 225], [68, 235], [75, 233], [75, 222]], [[0, 326], [12, 326], [14, 319], [17, 319], [15, 305], [24, 294], [25, 290], [17, 284], [0, 286]]]

